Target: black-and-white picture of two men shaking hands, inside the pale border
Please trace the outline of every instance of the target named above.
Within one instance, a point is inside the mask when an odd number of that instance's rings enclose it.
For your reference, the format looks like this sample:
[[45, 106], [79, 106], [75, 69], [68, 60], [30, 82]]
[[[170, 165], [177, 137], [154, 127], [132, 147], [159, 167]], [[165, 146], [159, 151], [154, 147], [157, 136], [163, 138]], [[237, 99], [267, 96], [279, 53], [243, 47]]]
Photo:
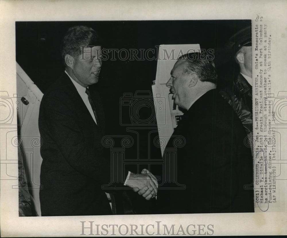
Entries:
[[[29, 206], [36, 216], [254, 212], [252, 154], [244, 144], [252, 133], [251, 20], [15, 27], [22, 81], [36, 91], [26, 86], [18, 94], [27, 104], [19, 140], [29, 168], [21, 173], [27, 189], [19, 190], [20, 215]], [[166, 45], [174, 47], [161, 57]], [[156, 78], [158, 61], [172, 61], [164, 67], [170, 77]], [[153, 98], [156, 80], [183, 112], [170, 139], [157, 131], [156, 114], [169, 101], [165, 94]], [[30, 103], [29, 94], [44, 96]], [[29, 158], [25, 144], [38, 138], [40, 150]]]

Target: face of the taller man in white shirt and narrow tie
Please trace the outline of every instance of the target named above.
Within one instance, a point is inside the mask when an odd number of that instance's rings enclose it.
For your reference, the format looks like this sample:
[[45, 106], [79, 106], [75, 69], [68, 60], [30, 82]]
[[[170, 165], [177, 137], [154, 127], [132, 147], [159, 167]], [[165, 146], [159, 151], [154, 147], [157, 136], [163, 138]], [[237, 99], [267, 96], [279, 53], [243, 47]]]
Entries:
[[98, 82], [102, 67], [102, 54], [100, 46], [85, 47], [82, 52], [74, 58], [72, 72], [76, 78], [75, 81], [86, 88]]

